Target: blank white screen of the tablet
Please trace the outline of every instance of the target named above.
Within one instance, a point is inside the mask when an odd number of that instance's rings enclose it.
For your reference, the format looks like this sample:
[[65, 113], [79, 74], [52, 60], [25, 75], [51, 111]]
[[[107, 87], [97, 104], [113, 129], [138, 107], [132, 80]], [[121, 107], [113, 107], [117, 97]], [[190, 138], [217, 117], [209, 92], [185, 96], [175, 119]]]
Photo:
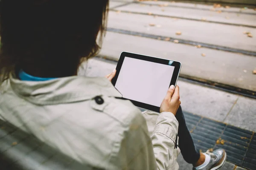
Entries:
[[125, 57], [115, 88], [126, 99], [160, 107], [174, 66]]

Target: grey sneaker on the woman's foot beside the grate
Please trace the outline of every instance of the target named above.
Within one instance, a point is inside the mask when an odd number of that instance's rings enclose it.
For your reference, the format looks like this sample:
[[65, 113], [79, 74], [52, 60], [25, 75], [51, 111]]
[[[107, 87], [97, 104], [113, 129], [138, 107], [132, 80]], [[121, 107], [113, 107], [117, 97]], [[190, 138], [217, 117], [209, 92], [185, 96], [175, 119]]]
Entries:
[[193, 167], [193, 170], [219, 170], [225, 164], [227, 159], [227, 154], [223, 149], [214, 150], [212, 153], [207, 150], [207, 152], [204, 154], [211, 157], [209, 163], [203, 167]]

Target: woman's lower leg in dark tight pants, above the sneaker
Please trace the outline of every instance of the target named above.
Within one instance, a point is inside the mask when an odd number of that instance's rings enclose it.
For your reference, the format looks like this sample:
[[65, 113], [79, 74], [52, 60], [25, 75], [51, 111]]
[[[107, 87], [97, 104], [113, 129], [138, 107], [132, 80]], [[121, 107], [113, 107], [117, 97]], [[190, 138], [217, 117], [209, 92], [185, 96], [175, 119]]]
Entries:
[[200, 152], [195, 148], [192, 136], [186, 126], [181, 107], [178, 108], [175, 117], [179, 122], [178, 136], [180, 152], [187, 163], [195, 164], [200, 158]]

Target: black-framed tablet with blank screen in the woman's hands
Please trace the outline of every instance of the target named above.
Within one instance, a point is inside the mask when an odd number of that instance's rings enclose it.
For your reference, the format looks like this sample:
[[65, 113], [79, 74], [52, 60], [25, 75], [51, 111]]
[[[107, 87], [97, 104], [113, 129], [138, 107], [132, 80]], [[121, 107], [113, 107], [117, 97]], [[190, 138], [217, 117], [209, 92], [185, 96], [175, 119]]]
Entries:
[[180, 68], [177, 61], [122, 52], [112, 84], [135, 106], [160, 112], [168, 88], [177, 83]]

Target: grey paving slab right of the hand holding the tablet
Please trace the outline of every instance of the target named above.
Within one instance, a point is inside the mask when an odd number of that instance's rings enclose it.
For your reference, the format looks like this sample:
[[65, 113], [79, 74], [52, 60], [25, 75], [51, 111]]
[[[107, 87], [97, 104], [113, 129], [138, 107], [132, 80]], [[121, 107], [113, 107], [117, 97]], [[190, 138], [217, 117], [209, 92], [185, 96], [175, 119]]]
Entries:
[[233, 107], [237, 95], [178, 81], [182, 108], [214, 120], [223, 121]]

